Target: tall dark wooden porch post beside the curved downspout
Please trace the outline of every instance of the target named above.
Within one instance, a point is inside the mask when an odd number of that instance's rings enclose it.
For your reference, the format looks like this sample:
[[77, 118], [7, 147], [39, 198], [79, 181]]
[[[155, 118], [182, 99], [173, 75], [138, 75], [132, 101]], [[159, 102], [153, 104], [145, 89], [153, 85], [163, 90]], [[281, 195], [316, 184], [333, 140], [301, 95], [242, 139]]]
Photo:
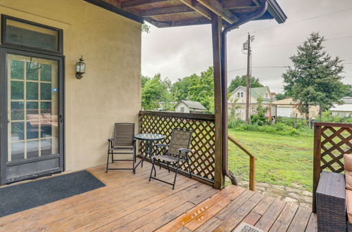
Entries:
[[222, 172], [222, 100], [221, 100], [221, 18], [211, 13], [211, 32], [213, 38], [214, 99], [215, 99], [215, 180], [214, 188], [225, 187]]

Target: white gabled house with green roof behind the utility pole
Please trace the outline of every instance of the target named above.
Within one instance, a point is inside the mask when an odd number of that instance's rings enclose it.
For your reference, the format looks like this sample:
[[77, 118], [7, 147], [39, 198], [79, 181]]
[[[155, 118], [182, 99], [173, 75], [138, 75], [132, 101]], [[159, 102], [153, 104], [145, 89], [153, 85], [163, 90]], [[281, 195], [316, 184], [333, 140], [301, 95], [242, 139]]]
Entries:
[[[249, 98], [249, 115], [253, 115], [256, 112], [258, 106], [258, 98], [262, 97], [262, 105], [264, 108], [268, 108], [265, 113], [266, 117], [272, 117], [276, 115], [275, 106], [272, 105], [273, 101], [276, 101], [275, 93], [272, 93], [268, 86], [256, 87], [250, 89]], [[246, 86], [238, 86], [237, 89], [230, 93], [227, 104], [228, 108], [232, 108], [234, 103], [237, 109], [235, 110], [236, 116], [241, 119], [246, 119]]]

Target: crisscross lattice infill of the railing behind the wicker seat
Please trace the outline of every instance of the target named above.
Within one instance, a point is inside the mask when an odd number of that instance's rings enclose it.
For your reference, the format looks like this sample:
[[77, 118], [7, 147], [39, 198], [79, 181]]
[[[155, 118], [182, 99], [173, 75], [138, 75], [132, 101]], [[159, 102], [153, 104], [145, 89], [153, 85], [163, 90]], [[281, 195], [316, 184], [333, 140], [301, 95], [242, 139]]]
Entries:
[[352, 154], [351, 127], [322, 126], [321, 170], [344, 172], [344, 154]]

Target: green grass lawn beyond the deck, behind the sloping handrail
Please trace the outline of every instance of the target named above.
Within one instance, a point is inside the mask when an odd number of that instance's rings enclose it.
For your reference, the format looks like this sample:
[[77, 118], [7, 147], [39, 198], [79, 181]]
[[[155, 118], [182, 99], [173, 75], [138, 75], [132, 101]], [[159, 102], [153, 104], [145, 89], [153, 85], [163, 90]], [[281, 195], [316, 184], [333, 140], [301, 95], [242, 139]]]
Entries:
[[[256, 155], [256, 181], [302, 186], [312, 191], [313, 135], [285, 136], [259, 131], [229, 134]], [[229, 141], [229, 167], [239, 180], [249, 180], [249, 156]]]

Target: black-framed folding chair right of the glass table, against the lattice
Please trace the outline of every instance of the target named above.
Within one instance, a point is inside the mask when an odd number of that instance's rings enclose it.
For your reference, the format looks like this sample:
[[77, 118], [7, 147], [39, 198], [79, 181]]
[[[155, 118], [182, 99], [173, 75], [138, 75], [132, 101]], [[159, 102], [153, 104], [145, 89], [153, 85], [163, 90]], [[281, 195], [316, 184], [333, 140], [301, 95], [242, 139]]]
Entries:
[[[175, 128], [172, 130], [171, 134], [171, 141], [170, 144], [156, 144], [157, 148], [163, 148], [165, 151], [165, 148], [168, 147], [168, 151], [164, 153], [164, 155], [152, 155], [151, 156], [151, 163], [152, 163], [152, 168], [151, 168], [151, 175], [149, 176], [149, 181], [151, 179], [156, 179], [158, 181], [162, 181], [164, 183], [168, 183], [172, 185], [172, 189], [175, 188], [175, 183], [176, 183], [176, 177], [178, 173], [178, 169], [180, 167], [180, 162], [187, 162], [188, 165], [188, 171], [189, 171], [189, 178], [191, 178], [191, 167], [189, 165], [189, 153], [191, 152], [191, 149], [189, 149], [191, 145], [191, 138], [192, 138], [192, 133], [193, 131], [189, 129], [181, 129], [181, 128]], [[159, 165], [161, 165], [161, 162], [166, 163], [168, 165], [168, 171], [170, 172], [170, 163], [175, 163], [176, 166], [176, 172], [175, 172], [175, 179], [173, 183], [163, 181], [161, 179], [157, 179], [156, 177], [153, 177], [153, 169], [154, 172], [155, 170], [155, 162], [159, 162]], [[156, 173], [155, 173], [156, 175]]]

